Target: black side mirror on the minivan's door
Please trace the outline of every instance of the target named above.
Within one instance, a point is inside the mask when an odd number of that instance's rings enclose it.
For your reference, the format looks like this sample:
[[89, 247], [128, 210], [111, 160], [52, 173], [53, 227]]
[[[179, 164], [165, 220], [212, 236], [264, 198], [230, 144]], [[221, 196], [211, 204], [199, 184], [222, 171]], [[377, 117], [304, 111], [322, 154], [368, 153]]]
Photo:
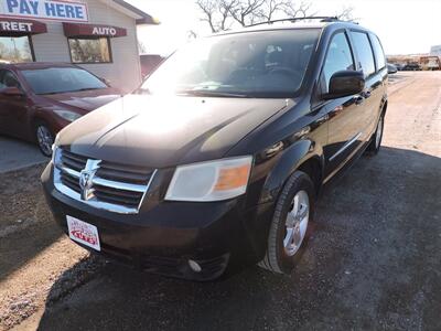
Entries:
[[359, 94], [365, 88], [365, 76], [363, 72], [341, 71], [332, 75], [329, 93], [323, 95], [324, 99], [335, 99], [354, 94]]

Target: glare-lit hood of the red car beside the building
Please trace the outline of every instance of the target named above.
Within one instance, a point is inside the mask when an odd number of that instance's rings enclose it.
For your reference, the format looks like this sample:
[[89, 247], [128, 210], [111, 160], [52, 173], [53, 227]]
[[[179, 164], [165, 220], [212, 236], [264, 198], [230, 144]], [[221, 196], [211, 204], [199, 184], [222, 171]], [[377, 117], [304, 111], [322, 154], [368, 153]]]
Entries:
[[61, 105], [92, 111], [121, 97], [121, 94], [116, 88], [103, 88], [45, 95], [44, 97]]

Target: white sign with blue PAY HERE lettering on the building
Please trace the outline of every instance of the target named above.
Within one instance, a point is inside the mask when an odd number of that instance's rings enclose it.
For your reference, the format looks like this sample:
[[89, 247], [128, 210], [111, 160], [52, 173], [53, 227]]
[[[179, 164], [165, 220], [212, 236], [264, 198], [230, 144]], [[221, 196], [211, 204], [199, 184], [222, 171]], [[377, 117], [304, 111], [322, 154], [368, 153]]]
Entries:
[[87, 4], [52, 0], [1, 0], [0, 17], [87, 22]]

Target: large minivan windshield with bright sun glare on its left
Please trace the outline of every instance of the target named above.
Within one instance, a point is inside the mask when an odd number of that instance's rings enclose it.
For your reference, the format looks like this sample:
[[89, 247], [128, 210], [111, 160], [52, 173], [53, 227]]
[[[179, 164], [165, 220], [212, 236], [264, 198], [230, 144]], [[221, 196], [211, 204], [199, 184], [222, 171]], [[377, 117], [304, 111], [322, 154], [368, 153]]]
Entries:
[[170, 56], [140, 93], [291, 97], [302, 85], [319, 29], [204, 38]]

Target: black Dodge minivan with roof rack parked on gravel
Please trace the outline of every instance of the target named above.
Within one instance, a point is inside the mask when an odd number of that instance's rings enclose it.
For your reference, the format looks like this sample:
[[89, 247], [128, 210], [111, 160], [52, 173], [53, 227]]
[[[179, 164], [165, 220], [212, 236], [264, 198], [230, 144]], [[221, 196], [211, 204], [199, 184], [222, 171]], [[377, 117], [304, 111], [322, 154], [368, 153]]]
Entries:
[[386, 88], [381, 44], [354, 23], [200, 39], [60, 132], [47, 202], [73, 241], [152, 273], [289, 274], [322, 185], [378, 152]]

